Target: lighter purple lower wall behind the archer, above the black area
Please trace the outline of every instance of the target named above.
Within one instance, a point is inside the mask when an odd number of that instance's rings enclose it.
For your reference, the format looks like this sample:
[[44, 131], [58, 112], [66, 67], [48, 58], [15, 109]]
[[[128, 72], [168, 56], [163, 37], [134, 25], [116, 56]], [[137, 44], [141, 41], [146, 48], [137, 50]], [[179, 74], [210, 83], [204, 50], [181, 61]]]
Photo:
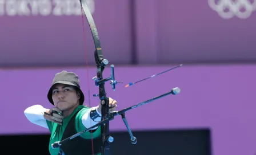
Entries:
[[[172, 66], [116, 67], [115, 77], [124, 84], [113, 92], [106, 85], [107, 93], [118, 101], [123, 109], [154, 96], [181, 88], [177, 96], [166, 96], [143, 107], [127, 112], [132, 130], [174, 129], [209, 127], [216, 155], [241, 155], [255, 153], [255, 79], [256, 66], [183, 66], [162, 76], [138, 83], [130, 88], [124, 85]], [[27, 70], [1, 70], [2, 96], [0, 133], [47, 133], [47, 129], [30, 124], [23, 115], [26, 107], [41, 104], [50, 108], [46, 93], [55, 73], [62, 70], [76, 72], [81, 78], [87, 97], [85, 68], [38, 68]], [[109, 72], [108, 72], [109, 71]], [[90, 68], [89, 77], [95, 75]], [[107, 68], [104, 76], [110, 75]], [[90, 93], [97, 93], [93, 80], [89, 79]], [[148, 87], [148, 88], [147, 88]], [[86, 103], [87, 103], [86, 99]], [[91, 97], [91, 105], [98, 98]], [[154, 115], [161, 111], [162, 115]], [[149, 119], [150, 117], [150, 119]], [[14, 124], [15, 123], [15, 124]], [[111, 130], [125, 130], [121, 117], [111, 121]]]

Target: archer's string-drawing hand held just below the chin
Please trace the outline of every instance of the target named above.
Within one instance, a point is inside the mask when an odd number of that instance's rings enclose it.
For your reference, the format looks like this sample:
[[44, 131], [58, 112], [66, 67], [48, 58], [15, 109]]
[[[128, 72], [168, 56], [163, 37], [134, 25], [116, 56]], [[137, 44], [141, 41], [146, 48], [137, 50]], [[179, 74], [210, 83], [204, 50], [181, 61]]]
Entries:
[[57, 107], [54, 107], [53, 109], [47, 110], [46, 113], [48, 113], [48, 115], [44, 115], [44, 117], [46, 120], [49, 120], [61, 125], [63, 121], [63, 116], [59, 115], [57, 112], [62, 113], [60, 109], [58, 109]]

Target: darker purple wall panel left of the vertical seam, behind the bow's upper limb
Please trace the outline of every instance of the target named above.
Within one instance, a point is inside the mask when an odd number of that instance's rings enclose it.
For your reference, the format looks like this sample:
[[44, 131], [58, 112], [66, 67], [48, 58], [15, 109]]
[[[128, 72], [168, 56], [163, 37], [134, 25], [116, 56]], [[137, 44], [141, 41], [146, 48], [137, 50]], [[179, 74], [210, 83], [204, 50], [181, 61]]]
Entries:
[[[79, 0], [72, 1], [79, 3]], [[63, 3], [65, 1], [61, 4]], [[129, 63], [131, 61], [129, 1], [95, 1], [95, 3], [93, 17], [103, 52], [107, 52], [111, 62], [115, 60], [115, 63]], [[86, 41], [83, 38], [81, 7], [78, 10], [79, 14], [72, 16], [53, 15], [54, 8], [56, 7], [53, 7], [52, 13], [47, 16], [29, 14], [23, 17], [18, 15], [1, 17], [0, 65], [53, 66], [63, 62], [65, 65], [84, 64], [85, 46], [89, 63], [94, 63], [95, 47], [86, 18], [84, 19]]]

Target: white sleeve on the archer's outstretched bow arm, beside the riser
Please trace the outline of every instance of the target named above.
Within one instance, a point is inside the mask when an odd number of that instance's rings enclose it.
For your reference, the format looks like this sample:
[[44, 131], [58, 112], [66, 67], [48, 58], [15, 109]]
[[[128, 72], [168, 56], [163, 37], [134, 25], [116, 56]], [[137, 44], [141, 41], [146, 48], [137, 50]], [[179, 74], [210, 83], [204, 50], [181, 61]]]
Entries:
[[[95, 120], [92, 120], [90, 117], [90, 111], [91, 109], [96, 109], [96, 112], [98, 113], [98, 115], [100, 117], [97, 117]], [[96, 107], [91, 108], [90, 111], [86, 112], [83, 116], [82, 116], [82, 123], [85, 126], [85, 128], [90, 128], [91, 126], [97, 124], [99, 121], [101, 121], [101, 113], [99, 113], [97, 111]], [[91, 130], [97, 129], [98, 127], [92, 128]]]

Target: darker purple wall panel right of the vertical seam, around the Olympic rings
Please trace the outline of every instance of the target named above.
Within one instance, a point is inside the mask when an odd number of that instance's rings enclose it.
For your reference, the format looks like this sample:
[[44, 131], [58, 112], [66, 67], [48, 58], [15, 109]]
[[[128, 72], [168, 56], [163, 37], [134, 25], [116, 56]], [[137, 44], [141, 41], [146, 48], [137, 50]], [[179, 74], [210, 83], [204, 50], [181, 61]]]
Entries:
[[255, 12], [223, 19], [207, 0], [136, 2], [140, 63], [256, 60]]

